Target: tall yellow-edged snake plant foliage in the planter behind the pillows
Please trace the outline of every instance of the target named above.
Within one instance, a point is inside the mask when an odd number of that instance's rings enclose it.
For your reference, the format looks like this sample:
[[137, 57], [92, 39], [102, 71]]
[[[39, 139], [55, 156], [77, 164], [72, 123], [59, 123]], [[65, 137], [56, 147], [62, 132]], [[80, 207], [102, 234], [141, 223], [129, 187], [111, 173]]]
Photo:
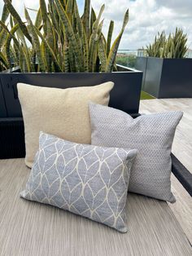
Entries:
[[[103, 5], [95, 14], [85, 0], [82, 16], [76, 0], [39, 1], [38, 10], [24, 8], [27, 22], [21, 20], [11, 0], [3, 0], [0, 20], [0, 71], [20, 64], [22, 72], [111, 72], [116, 53], [129, 20], [125, 12], [120, 34], [111, 46], [114, 22], [104, 37]], [[29, 12], [34, 11], [33, 23]], [[10, 29], [11, 27], [11, 29]]]

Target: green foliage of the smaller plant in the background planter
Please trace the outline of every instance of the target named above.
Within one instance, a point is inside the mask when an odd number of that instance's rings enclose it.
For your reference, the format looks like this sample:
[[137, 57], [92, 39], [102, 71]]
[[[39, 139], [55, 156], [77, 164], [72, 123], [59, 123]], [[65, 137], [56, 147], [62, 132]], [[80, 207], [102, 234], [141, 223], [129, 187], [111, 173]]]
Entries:
[[158, 58], [185, 58], [188, 50], [186, 42], [187, 36], [182, 29], [176, 28], [175, 33], [170, 33], [168, 38], [163, 31], [155, 36], [155, 41], [152, 44], [146, 46], [146, 55]]

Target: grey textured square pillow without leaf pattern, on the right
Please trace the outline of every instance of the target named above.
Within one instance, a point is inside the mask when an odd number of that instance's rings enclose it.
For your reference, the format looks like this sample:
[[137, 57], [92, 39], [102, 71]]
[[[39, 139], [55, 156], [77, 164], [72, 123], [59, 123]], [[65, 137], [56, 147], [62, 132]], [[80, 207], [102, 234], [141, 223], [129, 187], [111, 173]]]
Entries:
[[105, 147], [137, 148], [129, 192], [174, 202], [170, 154], [182, 114], [158, 113], [133, 119], [118, 109], [90, 103], [91, 143]]

